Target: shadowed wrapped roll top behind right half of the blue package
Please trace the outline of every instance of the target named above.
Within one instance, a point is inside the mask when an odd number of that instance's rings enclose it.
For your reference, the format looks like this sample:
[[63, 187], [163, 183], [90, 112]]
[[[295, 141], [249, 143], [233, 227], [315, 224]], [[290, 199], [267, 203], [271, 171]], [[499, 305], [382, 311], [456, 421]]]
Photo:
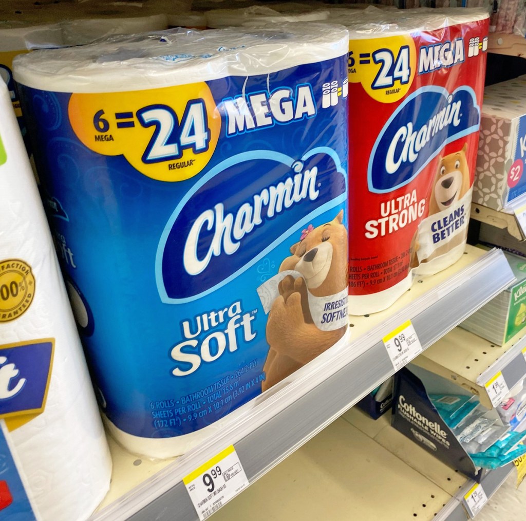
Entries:
[[282, 22], [317, 22], [326, 20], [329, 11], [308, 11], [306, 13], [278, 12], [269, 7], [252, 6], [246, 9], [213, 9], [207, 11], [206, 25], [212, 29], [239, 27], [246, 23], [272, 24]]

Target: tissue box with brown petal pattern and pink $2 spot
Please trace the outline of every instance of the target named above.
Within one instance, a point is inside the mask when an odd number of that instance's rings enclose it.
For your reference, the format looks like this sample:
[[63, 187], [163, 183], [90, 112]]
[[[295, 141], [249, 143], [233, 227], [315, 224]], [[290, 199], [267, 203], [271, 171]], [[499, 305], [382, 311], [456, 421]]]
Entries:
[[526, 192], [526, 75], [484, 90], [473, 203], [495, 210]]

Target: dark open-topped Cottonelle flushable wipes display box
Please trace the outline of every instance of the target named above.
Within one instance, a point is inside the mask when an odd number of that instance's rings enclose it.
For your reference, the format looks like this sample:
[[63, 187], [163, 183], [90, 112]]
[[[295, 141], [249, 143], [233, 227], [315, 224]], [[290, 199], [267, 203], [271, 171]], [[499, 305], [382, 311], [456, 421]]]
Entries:
[[395, 375], [391, 425], [441, 462], [480, 483], [488, 470], [477, 469], [428, 393], [469, 394], [449, 380], [410, 364]]

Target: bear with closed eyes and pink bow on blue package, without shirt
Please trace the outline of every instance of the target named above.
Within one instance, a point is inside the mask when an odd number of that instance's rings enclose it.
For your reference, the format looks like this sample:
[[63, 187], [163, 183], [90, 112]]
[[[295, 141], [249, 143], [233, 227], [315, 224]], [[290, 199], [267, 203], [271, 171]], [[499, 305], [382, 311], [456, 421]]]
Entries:
[[296, 270], [281, 280], [279, 296], [267, 320], [269, 352], [264, 366], [266, 379], [261, 389], [277, 384], [295, 370], [334, 345], [347, 327], [333, 331], [318, 329], [312, 320], [308, 293], [323, 297], [347, 288], [347, 229], [342, 224], [343, 210], [329, 223], [309, 225], [301, 239], [290, 247], [280, 272]]

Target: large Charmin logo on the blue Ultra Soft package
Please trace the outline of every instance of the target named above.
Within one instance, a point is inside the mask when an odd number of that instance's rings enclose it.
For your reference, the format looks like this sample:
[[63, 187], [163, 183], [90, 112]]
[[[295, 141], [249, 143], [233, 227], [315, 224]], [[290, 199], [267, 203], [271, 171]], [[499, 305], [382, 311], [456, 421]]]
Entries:
[[194, 186], [165, 227], [156, 257], [161, 300], [207, 295], [288, 239], [291, 229], [345, 201], [345, 172], [330, 148], [299, 160], [269, 151], [226, 159]]

